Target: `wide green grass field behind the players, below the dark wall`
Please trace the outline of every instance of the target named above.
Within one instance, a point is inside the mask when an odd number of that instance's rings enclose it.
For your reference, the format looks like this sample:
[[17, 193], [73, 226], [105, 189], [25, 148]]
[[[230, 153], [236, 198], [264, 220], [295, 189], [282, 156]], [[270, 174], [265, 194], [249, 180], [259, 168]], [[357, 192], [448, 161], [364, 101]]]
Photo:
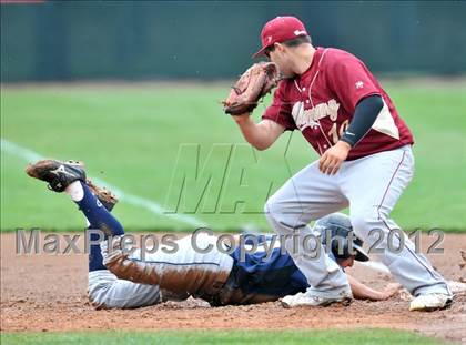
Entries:
[[[405, 229], [465, 231], [466, 84], [386, 89], [416, 138], [415, 179], [393, 217]], [[3, 88], [1, 138], [45, 156], [83, 160], [90, 175], [190, 213], [214, 230], [245, 224], [267, 230], [262, 214], [267, 194], [316, 154], [298, 132], [254, 152], [222, 113], [217, 101], [226, 91], [205, 84]], [[24, 165], [2, 150], [1, 230], [83, 229], [65, 195], [27, 177]], [[196, 173], [204, 181], [210, 176], [210, 189], [195, 183]], [[186, 193], [176, 210], [184, 177]], [[190, 229], [124, 202], [114, 212], [130, 231]]]

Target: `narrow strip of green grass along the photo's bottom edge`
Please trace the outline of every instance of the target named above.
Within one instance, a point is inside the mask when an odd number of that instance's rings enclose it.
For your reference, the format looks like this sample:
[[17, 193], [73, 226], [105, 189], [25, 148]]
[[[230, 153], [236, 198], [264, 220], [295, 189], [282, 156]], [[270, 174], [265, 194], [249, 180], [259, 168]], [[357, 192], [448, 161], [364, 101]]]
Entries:
[[2, 344], [444, 344], [409, 332], [358, 331], [175, 331], [175, 332], [88, 332], [9, 333]]

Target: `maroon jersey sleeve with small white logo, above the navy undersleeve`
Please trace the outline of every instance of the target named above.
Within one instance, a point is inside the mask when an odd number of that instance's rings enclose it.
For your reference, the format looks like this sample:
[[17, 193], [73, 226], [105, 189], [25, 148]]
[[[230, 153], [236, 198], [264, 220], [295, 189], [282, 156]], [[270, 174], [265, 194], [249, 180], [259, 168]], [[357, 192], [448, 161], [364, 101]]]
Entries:
[[381, 94], [381, 90], [359, 59], [344, 51], [335, 51], [331, 53], [333, 57], [327, 69], [328, 83], [342, 105], [353, 114], [362, 99]]

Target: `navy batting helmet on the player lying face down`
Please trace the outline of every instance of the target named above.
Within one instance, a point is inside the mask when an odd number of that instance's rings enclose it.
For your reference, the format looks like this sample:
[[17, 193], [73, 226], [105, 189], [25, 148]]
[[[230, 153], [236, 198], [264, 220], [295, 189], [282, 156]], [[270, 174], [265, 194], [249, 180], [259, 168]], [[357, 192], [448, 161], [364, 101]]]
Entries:
[[[343, 213], [332, 213], [315, 222], [314, 229], [322, 235], [322, 243], [325, 244], [336, 258], [348, 258], [353, 252], [355, 260], [368, 261], [363, 250], [363, 240], [353, 234], [353, 243], [350, 245], [350, 233], [353, 231], [350, 217]], [[327, 234], [331, 239], [327, 239]], [[353, 248], [353, 251], [352, 251]]]

